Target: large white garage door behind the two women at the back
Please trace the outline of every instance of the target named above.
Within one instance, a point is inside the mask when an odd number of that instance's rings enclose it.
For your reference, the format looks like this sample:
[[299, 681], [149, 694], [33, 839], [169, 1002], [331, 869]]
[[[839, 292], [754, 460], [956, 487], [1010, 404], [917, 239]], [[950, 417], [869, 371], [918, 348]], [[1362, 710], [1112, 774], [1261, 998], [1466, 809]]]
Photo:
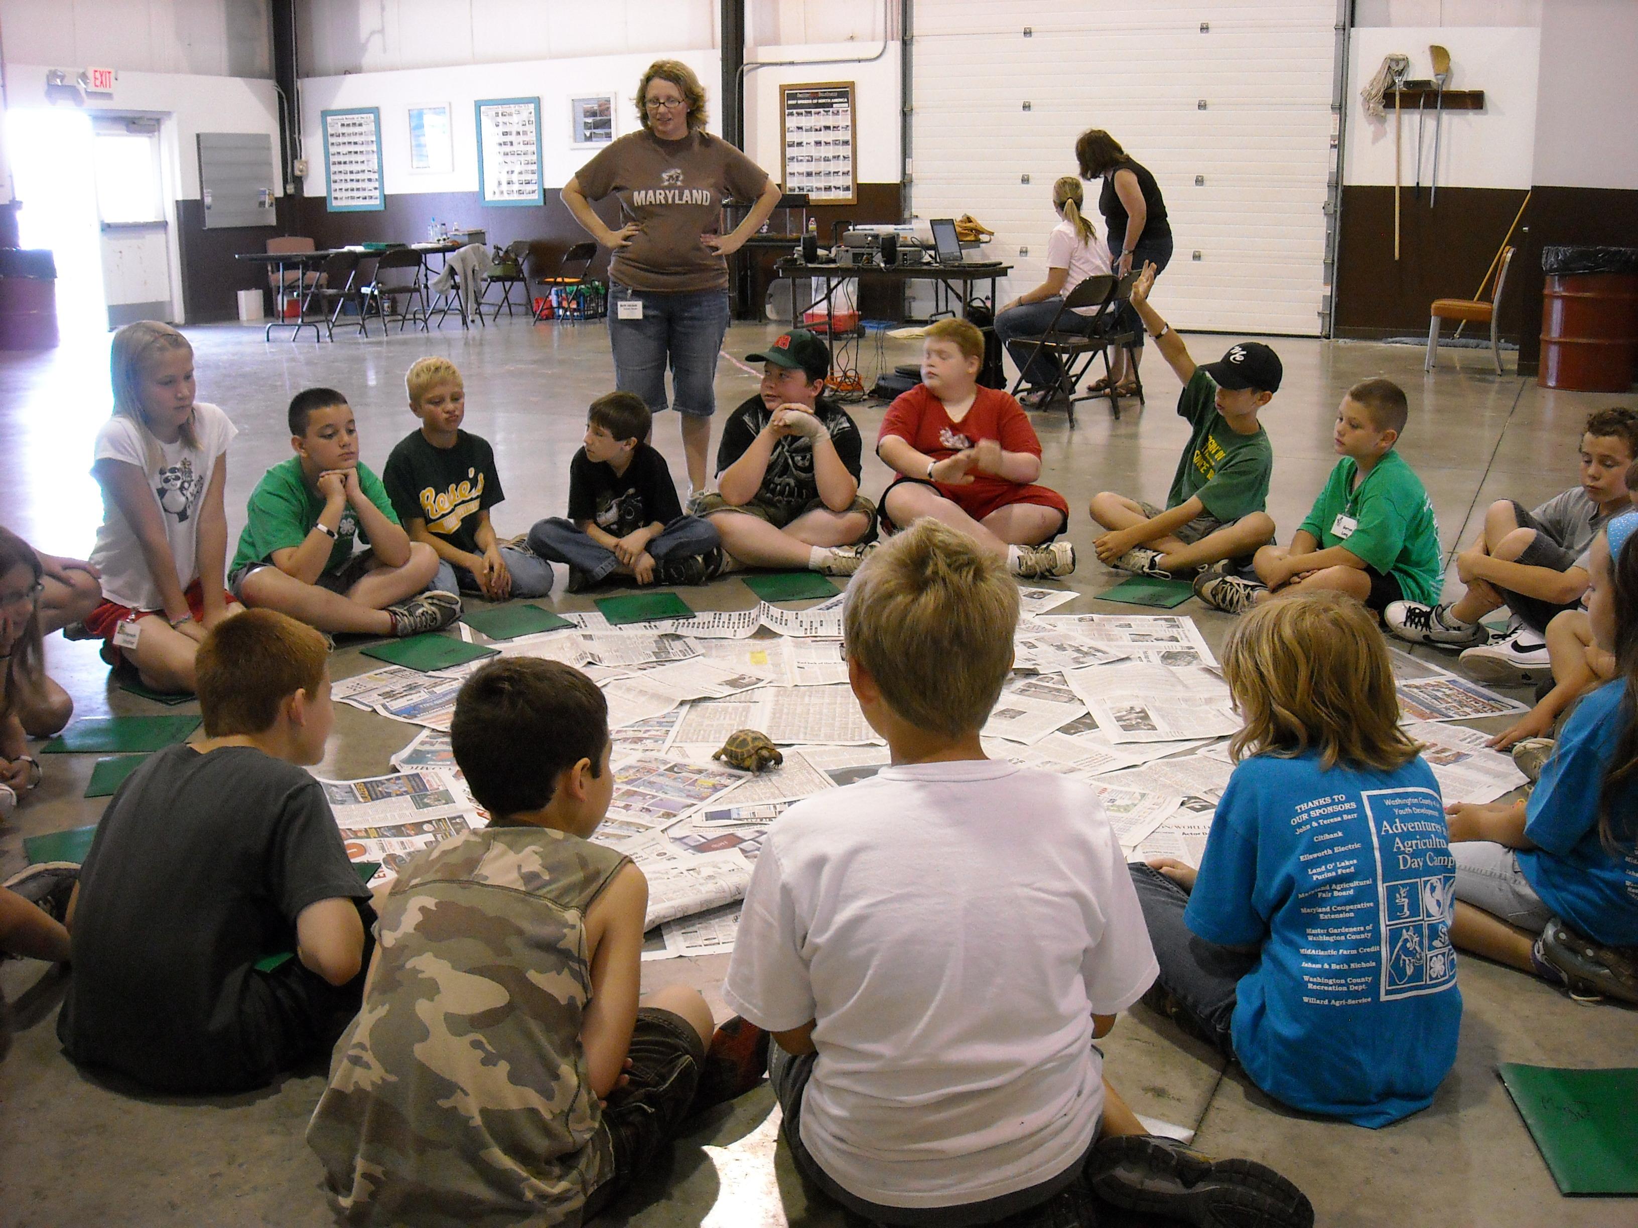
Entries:
[[912, 210], [971, 213], [1016, 264], [1002, 296], [1027, 290], [1052, 182], [1075, 174], [1075, 138], [1104, 128], [1166, 198], [1178, 249], [1155, 301], [1171, 321], [1317, 336], [1335, 20], [1335, 0], [916, 0]]

